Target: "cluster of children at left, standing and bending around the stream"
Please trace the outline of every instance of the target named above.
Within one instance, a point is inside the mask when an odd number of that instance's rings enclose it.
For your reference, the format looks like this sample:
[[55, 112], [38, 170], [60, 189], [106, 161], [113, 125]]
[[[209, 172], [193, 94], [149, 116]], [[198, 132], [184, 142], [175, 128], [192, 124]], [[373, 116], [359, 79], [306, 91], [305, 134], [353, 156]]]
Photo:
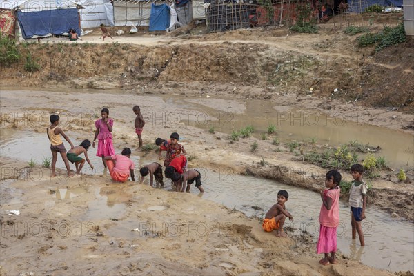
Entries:
[[[139, 140], [139, 148], [143, 146], [142, 143], [142, 130], [145, 126], [145, 121], [141, 115], [139, 106], [134, 106], [132, 111], [137, 115], [135, 117], [135, 133]], [[47, 133], [50, 140], [50, 150], [52, 151], [52, 177], [55, 177], [55, 167], [57, 161], [57, 152], [60, 152], [63, 162], [65, 163], [66, 170], [68, 170], [68, 177], [72, 177], [70, 172], [69, 161], [75, 164], [76, 173], [80, 174], [85, 164], [85, 159], [90, 165], [90, 168], [94, 168], [88, 158], [88, 149], [90, 147], [89, 140], [83, 140], [79, 146], [73, 146], [72, 142], [65, 135], [61, 128], [57, 127], [59, 124], [59, 115], [50, 115], [50, 126]], [[112, 127], [114, 121], [109, 117], [108, 108], [101, 110], [101, 119], [95, 121], [95, 136], [92, 141], [92, 147], [95, 148], [96, 140], [97, 144], [97, 156], [101, 157], [104, 167], [104, 173], [109, 170], [112, 180], [118, 182], [125, 182], [131, 177], [132, 181], [135, 181], [134, 162], [130, 159], [130, 148], [124, 148], [121, 155], [115, 154], [115, 149], [112, 143]], [[66, 153], [66, 148], [63, 145], [61, 137], [66, 139], [70, 144], [70, 150]], [[186, 150], [184, 146], [178, 143], [179, 135], [177, 132], [173, 132], [170, 135], [170, 140], [164, 140], [157, 138], [155, 144], [159, 146], [158, 157], [161, 159], [161, 151], [166, 151], [166, 159], [164, 161], [165, 175], [172, 180], [177, 191], [190, 192], [190, 186], [195, 182], [195, 186], [201, 193], [204, 193], [204, 189], [201, 187], [201, 174], [197, 170], [187, 170]], [[79, 155], [85, 155], [85, 159], [79, 157]], [[161, 186], [164, 186], [164, 176], [162, 166], [157, 162], [146, 164], [139, 170], [141, 175], [140, 182], [144, 181], [146, 175], [150, 175], [150, 186], [153, 186], [154, 178]]]

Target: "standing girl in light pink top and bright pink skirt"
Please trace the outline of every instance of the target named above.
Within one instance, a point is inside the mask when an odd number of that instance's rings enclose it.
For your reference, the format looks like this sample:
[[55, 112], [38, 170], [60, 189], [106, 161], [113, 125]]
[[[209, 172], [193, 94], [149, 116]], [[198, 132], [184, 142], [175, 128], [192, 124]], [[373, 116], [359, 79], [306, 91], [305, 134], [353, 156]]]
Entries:
[[[339, 183], [342, 176], [337, 170], [326, 173], [325, 186], [328, 190], [321, 190], [322, 206], [319, 213], [319, 239], [317, 240], [317, 254], [324, 253], [324, 259], [319, 264], [327, 266], [336, 264], [337, 227], [339, 225]], [[331, 257], [329, 253], [331, 252]]]

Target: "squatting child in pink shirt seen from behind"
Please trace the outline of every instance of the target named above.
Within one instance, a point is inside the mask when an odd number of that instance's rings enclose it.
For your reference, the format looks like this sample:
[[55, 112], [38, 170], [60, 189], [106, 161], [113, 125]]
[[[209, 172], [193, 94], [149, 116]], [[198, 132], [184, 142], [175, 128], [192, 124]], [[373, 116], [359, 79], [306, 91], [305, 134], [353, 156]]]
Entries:
[[[111, 155], [105, 157], [106, 164], [113, 181], [125, 182], [131, 175], [132, 181], [135, 181], [134, 162], [130, 159], [130, 148], [124, 148], [121, 155]], [[114, 164], [115, 161], [115, 164]]]

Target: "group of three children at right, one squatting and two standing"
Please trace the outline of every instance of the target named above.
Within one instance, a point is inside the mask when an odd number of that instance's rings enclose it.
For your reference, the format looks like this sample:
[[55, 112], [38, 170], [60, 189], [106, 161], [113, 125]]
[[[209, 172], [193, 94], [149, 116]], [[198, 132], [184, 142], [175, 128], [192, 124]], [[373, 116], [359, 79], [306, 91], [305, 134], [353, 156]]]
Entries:
[[[361, 164], [351, 166], [353, 181], [349, 191], [349, 206], [351, 206], [351, 228], [352, 239], [358, 233], [361, 246], [365, 246], [364, 233], [362, 231], [362, 220], [365, 219], [366, 192], [368, 186], [362, 180], [364, 167]], [[326, 266], [337, 264], [335, 253], [337, 251], [337, 227], [339, 226], [339, 195], [341, 189], [339, 183], [342, 176], [337, 170], [330, 170], [326, 173], [325, 186], [321, 190], [322, 206], [319, 213], [319, 239], [317, 241], [317, 254], [324, 253], [324, 258], [319, 261]], [[288, 192], [279, 190], [277, 193], [277, 204], [273, 205], [266, 213], [262, 228], [266, 232], [276, 230], [277, 237], [286, 237], [283, 231], [286, 217], [293, 221], [293, 216], [286, 210], [285, 203], [288, 201]], [[329, 257], [331, 253], [331, 257]]]

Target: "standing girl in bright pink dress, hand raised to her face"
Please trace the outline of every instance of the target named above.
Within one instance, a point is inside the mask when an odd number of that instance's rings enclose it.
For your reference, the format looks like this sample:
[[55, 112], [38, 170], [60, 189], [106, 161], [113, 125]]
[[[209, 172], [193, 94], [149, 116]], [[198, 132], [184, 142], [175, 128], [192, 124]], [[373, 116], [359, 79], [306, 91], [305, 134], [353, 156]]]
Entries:
[[95, 131], [95, 137], [93, 138], [92, 147], [95, 148], [95, 140], [98, 138], [97, 156], [102, 157], [103, 166], [106, 168], [106, 162], [104, 157], [115, 155], [114, 146], [112, 144], [112, 126], [114, 120], [109, 116], [108, 108], [103, 108], [101, 111], [102, 119], [95, 121], [97, 130]]

